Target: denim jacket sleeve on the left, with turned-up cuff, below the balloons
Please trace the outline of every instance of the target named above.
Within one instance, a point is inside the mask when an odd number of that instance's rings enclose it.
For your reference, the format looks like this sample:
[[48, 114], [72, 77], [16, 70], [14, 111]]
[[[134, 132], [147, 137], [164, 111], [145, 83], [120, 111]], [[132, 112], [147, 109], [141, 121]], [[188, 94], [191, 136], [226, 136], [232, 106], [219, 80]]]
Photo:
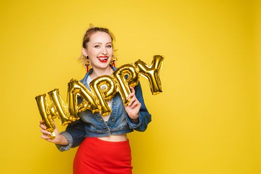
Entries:
[[85, 122], [82, 119], [78, 119], [66, 127], [66, 130], [60, 134], [64, 135], [68, 140], [68, 145], [56, 144], [59, 151], [68, 151], [70, 148], [79, 146], [85, 139]]

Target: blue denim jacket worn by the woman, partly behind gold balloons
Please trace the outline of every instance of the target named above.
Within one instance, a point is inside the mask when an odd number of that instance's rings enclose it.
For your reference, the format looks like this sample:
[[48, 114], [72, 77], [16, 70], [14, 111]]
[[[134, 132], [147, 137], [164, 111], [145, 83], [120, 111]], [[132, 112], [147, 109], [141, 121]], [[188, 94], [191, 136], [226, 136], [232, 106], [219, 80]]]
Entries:
[[[87, 84], [87, 77], [92, 73], [90, 69], [85, 75], [81, 83], [90, 90]], [[85, 110], [79, 113], [80, 119], [76, 120], [66, 127], [66, 130], [60, 134], [64, 135], [68, 140], [68, 145], [56, 144], [59, 151], [67, 151], [70, 148], [79, 146], [86, 137], [105, 137], [109, 135], [121, 135], [129, 132], [145, 131], [149, 122], [151, 122], [151, 114], [148, 112], [142, 96], [140, 83], [135, 89], [135, 95], [141, 103], [141, 108], [138, 113], [139, 122], [134, 124], [131, 122], [122, 102], [119, 92], [112, 98], [111, 114], [107, 123], [103, 120], [100, 113], [91, 113], [90, 110]], [[78, 103], [82, 102], [82, 98], [78, 98]]]

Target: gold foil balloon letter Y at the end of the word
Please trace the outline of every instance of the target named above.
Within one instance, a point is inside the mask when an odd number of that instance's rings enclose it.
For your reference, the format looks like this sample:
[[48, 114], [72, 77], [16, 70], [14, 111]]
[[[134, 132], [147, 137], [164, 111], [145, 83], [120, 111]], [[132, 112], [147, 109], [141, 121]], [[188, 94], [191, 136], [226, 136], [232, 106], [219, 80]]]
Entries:
[[143, 61], [138, 60], [134, 64], [139, 67], [139, 73], [149, 80], [151, 92], [156, 95], [162, 92], [160, 71], [162, 68], [164, 57], [160, 55], [153, 56], [151, 66], [148, 66]]

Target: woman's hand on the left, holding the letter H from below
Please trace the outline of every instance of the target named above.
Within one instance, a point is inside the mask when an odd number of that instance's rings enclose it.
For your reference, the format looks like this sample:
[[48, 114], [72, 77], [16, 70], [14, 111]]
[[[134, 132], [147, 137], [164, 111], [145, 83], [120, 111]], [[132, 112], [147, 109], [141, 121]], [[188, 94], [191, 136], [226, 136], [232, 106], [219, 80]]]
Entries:
[[[54, 122], [55, 124], [55, 122]], [[60, 145], [68, 145], [68, 140], [65, 138], [65, 136], [61, 135], [59, 132], [58, 132], [58, 129], [55, 125], [55, 130], [54, 130], [54, 133], [55, 133], [55, 138], [51, 140], [51, 138], [48, 136], [48, 135], [51, 135], [51, 132], [48, 132], [46, 129], [46, 127], [43, 125], [43, 120], [40, 121], [40, 128], [41, 129], [41, 132], [43, 133], [43, 135], [41, 135], [41, 138], [46, 140], [46, 141], [49, 141], [51, 143], [55, 143], [55, 144], [60, 144]]]

